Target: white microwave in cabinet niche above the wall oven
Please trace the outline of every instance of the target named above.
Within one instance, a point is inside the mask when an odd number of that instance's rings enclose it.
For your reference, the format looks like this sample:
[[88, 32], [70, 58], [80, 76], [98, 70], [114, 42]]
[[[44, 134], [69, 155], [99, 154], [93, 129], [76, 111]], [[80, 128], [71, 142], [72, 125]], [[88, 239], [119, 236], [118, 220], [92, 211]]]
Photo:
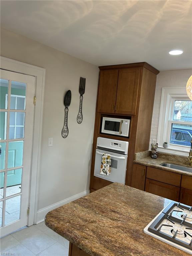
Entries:
[[101, 132], [118, 136], [129, 136], [130, 120], [112, 117], [103, 117]]

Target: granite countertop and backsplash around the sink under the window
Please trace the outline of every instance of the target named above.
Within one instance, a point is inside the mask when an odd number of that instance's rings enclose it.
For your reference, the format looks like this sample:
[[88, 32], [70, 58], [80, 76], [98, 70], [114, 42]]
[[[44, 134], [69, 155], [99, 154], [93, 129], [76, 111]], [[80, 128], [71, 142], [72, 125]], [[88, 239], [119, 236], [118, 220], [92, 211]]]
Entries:
[[166, 170], [169, 172], [175, 172], [175, 173], [179, 173], [179, 174], [192, 176], [192, 172], [181, 171], [181, 170], [177, 170], [177, 169], [173, 169], [173, 168], [169, 168], [169, 167], [160, 165], [162, 163], [170, 163], [170, 164], [186, 166], [188, 168], [191, 168], [191, 170], [192, 170], [192, 166], [189, 165], [189, 161], [188, 161], [187, 157], [158, 152], [157, 159], [153, 159], [149, 156], [149, 154], [150, 154], [149, 151], [136, 153], [135, 160], [133, 162], [136, 164], [142, 164], [142, 165]]

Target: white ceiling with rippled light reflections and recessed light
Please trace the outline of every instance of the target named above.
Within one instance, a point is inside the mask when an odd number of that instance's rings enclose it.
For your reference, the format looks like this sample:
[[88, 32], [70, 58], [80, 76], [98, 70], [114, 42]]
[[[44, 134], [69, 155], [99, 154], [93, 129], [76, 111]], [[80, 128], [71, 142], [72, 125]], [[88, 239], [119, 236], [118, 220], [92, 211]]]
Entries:
[[97, 66], [192, 68], [192, 1], [1, 1], [1, 26]]

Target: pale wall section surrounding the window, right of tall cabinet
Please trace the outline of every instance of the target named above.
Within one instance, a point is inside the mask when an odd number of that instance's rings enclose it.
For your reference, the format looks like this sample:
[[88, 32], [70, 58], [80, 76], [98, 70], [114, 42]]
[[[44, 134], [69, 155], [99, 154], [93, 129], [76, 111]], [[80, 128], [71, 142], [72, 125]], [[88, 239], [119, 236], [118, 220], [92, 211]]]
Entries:
[[[149, 149], [151, 149], [152, 140], [154, 139], [155, 141], [157, 141], [162, 88], [163, 87], [185, 88], [187, 80], [189, 79], [191, 74], [192, 74], [192, 69], [186, 69], [186, 70], [161, 71], [157, 75]], [[159, 151], [161, 150], [159, 149]]]

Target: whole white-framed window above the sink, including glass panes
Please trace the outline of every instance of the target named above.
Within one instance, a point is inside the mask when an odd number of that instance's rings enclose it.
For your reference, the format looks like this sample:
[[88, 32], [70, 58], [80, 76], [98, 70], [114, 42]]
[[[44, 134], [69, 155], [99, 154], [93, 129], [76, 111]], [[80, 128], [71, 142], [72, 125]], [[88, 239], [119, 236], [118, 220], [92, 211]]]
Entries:
[[163, 88], [158, 128], [159, 146], [189, 151], [192, 140], [192, 101], [184, 88]]

